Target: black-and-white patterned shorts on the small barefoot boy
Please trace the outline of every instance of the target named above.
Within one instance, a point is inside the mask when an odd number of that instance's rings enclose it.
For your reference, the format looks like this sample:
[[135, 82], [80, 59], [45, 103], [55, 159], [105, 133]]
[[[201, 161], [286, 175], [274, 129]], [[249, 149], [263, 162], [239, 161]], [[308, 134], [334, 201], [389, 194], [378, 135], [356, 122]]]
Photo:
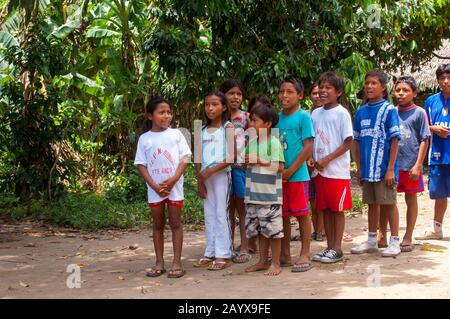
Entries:
[[283, 238], [283, 217], [281, 205], [245, 205], [245, 233], [247, 238], [259, 234], [266, 238]]

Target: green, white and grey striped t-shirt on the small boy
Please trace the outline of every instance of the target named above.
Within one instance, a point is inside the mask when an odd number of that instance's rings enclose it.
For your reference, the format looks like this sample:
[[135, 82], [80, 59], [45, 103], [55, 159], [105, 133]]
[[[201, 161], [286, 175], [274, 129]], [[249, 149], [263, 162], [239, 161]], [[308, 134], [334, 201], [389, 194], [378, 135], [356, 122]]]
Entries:
[[282, 174], [277, 173], [278, 164], [284, 163], [283, 147], [280, 141], [271, 136], [269, 141], [258, 143], [257, 138], [254, 138], [244, 150], [244, 156], [247, 154], [250, 155], [250, 161], [252, 161], [252, 155], [256, 155], [272, 162], [272, 165], [266, 167], [254, 164], [247, 167], [244, 202], [260, 205], [282, 204]]

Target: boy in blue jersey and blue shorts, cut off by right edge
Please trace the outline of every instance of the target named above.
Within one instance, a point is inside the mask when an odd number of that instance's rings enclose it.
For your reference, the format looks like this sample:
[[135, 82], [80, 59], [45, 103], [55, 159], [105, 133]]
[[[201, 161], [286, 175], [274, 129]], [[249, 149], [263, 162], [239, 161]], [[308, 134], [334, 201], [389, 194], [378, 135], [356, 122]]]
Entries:
[[435, 200], [434, 219], [431, 228], [416, 237], [419, 240], [443, 238], [442, 221], [450, 196], [450, 64], [440, 65], [436, 77], [441, 92], [430, 96], [424, 106], [431, 131], [428, 188]]

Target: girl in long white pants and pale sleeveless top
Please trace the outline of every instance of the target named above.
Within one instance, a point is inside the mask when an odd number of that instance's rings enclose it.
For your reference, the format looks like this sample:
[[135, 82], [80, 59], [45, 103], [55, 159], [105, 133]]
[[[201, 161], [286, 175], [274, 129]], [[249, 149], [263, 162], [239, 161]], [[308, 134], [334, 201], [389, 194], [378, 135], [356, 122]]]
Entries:
[[195, 267], [221, 270], [232, 257], [228, 203], [235, 141], [230, 110], [220, 91], [208, 93], [204, 101], [206, 125], [202, 129], [202, 162], [195, 164], [198, 194], [204, 199], [206, 249]]

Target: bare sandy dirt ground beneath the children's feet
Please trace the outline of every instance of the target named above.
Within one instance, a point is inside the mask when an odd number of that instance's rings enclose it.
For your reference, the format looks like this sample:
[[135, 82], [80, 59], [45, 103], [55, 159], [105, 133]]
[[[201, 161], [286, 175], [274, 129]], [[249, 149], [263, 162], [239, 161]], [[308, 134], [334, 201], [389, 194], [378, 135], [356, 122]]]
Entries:
[[[359, 192], [354, 188], [354, 192]], [[398, 196], [400, 235], [405, 231], [404, 196]], [[431, 224], [433, 202], [428, 192], [419, 197], [416, 234]], [[448, 220], [448, 217], [447, 217]], [[444, 223], [440, 241], [416, 242], [415, 250], [396, 258], [351, 255], [350, 248], [367, 238], [367, 214], [347, 217], [346, 230], [354, 237], [344, 244], [345, 260], [337, 264], [314, 263], [305, 273], [283, 268], [278, 277], [262, 272], [245, 273], [248, 264], [234, 264], [212, 272], [192, 266], [202, 256], [204, 231], [186, 231], [180, 279], [147, 278], [154, 263], [150, 229], [83, 232], [56, 228], [41, 222], [0, 220], [0, 298], [449, 298], [450, 223]], [[298, 232], [293, 226], [293, 232]], [[166, 268], [172, 247], [166, 232]], [[291, 242], [295, 257], [299, 242]], [[312, 242], [317, 252], [325, 242]], [[441, 251], [422, 250], [423, 247]], [[254, 256], [250, 263], [256, 261]], [[67, 281], [80, 267], [80, 288]], [[69, 267], [69, 269], [68, 269]], [[69, 270], [69, 272], [68, 272]], [[72, 277], [70, 277], [72, 276]], [[69, 285], [70, 286], [70, 285]]]

